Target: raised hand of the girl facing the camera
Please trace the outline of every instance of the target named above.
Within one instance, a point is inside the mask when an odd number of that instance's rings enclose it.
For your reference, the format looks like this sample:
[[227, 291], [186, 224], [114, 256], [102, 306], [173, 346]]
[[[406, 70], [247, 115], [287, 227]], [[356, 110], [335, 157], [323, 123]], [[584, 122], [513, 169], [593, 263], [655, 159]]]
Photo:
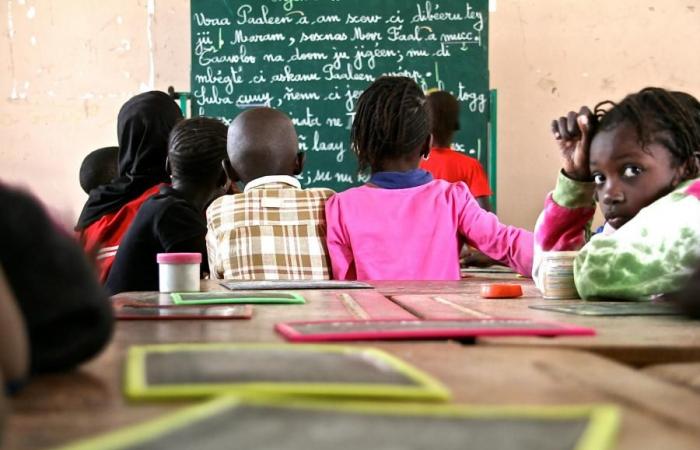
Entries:
[[582, 106], [578, 114], [569, 111], [565, 117], [552, 121], [552, 134], [561, 149], [564, 174], [577, 181], [591, 181], [588, 159], [594, 123], [595, 116], [587, 106]]

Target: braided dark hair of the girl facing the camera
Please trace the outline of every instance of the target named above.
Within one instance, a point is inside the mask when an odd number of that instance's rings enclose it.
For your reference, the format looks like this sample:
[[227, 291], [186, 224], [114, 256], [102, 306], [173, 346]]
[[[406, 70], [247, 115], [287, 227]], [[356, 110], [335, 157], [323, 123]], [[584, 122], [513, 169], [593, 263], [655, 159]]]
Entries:
[[598, 131], [627, 122], [636, 129], [643, 148], [654, 143], [663, 145], [677, 165], [689, 163], [688, 178], [698, 176], [700, 102], [692, 95], [648, 87], [626, 96], [620, 103], [598, 103], [595, 114]]

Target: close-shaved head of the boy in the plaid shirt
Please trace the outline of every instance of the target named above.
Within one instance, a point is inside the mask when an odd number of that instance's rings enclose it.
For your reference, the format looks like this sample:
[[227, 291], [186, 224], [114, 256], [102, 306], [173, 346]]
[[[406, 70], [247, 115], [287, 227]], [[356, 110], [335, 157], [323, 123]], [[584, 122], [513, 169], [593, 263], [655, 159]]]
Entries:
[[268, 175], [297, 175], [303, 167], [292, 120], [272, 108], [240, 113], [228, 128], [228, 158], [224, 167], [231, 181], [248, 183]]

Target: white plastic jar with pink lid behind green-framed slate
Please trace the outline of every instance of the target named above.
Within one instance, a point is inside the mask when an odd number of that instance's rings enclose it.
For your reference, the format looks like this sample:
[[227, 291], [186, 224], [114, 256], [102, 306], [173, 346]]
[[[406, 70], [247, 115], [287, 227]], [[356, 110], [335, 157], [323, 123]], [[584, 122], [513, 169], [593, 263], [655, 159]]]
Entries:
[[201, 253], [158, 253], [160, 292], [199, 291]]

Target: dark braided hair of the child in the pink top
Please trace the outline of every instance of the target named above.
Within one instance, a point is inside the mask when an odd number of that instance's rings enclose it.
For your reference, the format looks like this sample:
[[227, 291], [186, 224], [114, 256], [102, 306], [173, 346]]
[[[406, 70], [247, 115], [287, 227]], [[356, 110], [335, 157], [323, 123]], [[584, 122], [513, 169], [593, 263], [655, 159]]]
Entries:
[[380, 77], [357, 100], [350, 141], [360, 171], [408, 154], [429, 135], [425, 96], [407, 77]]

